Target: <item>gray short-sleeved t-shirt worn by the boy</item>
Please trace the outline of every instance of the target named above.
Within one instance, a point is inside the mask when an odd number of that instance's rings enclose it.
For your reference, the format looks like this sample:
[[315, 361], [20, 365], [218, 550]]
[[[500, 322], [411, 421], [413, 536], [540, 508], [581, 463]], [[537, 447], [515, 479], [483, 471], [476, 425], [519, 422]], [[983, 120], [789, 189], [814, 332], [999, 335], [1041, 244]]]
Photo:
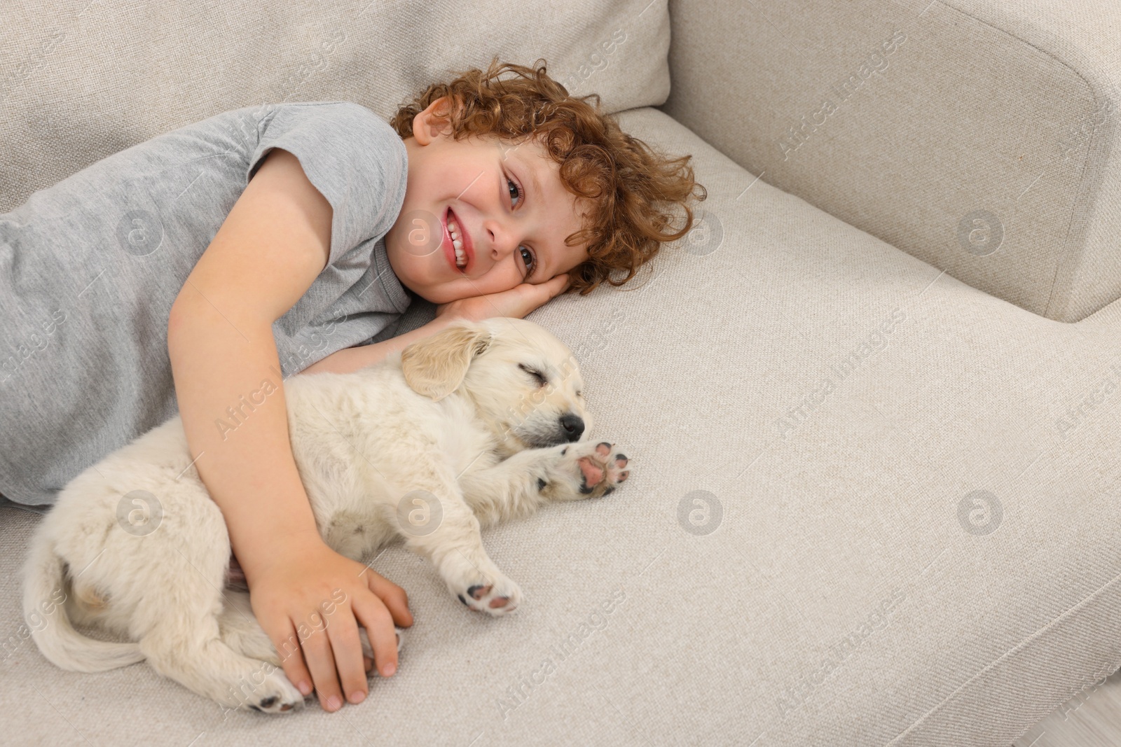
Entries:
[[52, 504], [178, 412], [172, 302], [271, 148], [334, 209], [327, 267], [272, 325], [282, 376], [392, 336], [411, 297], [383, 236], [408, 169], [385, 120], [343, 101], [266, 104], [132, 146], [0, 214], [0, 494]]

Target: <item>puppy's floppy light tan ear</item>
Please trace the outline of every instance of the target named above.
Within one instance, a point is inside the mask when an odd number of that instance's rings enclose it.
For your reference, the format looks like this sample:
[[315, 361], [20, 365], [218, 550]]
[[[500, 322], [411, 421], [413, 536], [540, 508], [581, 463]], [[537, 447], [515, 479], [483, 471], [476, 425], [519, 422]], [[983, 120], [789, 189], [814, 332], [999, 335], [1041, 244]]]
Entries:
[[417, 394], [439, 402], [460, 387], [472, 358], [490, 347], [492, 340], [484, 325], [456, 321], [401, 351], [405, 381]]

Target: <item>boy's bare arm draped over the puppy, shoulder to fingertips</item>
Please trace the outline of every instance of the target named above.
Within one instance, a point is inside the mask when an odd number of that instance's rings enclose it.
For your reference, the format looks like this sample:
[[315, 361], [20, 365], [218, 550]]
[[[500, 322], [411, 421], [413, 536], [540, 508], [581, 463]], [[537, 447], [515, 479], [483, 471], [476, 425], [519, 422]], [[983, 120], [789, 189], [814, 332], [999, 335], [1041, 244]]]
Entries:
[[[342, 704], [330, 702], [340, 697], [340, 679], [352, 702], [369, 689], [354, 617], [385, 674], [397, 663], [393, 623], [411, 624], [404, 590], [323, 542], [288, 439], [272, 323], [326, 265], [331, 220], [330, 203], [298, 159], [272, 150], [187, 277], [168, 319], [187, 445], [222, 510], [253, 611], [285, 674], [297, 685], [314, 680], [328, 711]], [[235, 430], [220, 429], [226, 409], [237, 409], [265, 380], [276, 391]], [[332, 623], [326, 631], [324, 613]], [[300, 627], [323, 635], [297, 638]], [[289, 641], [296, 645], [286, 646]]]

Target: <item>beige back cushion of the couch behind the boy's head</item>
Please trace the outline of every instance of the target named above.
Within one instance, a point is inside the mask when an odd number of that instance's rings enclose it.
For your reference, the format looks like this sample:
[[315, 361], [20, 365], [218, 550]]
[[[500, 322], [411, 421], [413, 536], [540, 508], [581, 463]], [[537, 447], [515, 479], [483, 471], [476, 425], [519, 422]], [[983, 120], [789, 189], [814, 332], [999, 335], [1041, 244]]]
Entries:
[[232, 109], [354, 101], [386, 119], [450, 71], [538, 57], [608, 111], [669, 93], [665, 0], [6, 2], [0, 213], [129, 146]]

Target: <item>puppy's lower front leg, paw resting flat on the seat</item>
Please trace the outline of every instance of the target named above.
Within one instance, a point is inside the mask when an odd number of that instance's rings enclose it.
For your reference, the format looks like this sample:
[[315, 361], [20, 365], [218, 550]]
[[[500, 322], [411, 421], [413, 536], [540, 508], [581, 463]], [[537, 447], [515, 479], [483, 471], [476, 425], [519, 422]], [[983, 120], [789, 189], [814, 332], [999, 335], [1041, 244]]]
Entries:
[[[521, 588], [487, 554], [479, 520], [454, 484], [416, 489], [397, 507], [397, 531], [405, 545], [432, 561], [452, 596], [475, 611], [513, 611]], [[438, 496], [438, 497], [437, 497]]]

